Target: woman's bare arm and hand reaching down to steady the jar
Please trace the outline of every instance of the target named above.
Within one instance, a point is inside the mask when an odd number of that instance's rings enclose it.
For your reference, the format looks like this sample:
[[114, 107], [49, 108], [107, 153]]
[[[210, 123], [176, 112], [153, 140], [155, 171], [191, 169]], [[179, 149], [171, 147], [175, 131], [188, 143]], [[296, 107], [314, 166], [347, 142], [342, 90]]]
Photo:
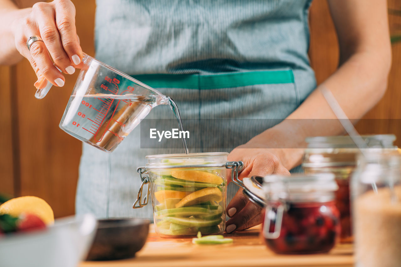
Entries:
[[[324, 81], [324, 86], [332, 91], [348, 117], [359, 119], [379, 101], [387, 87], [391, 67], [387, 2], [328, 0], [328, 3], [340, 44], [340, 64]], [[318, 88], [282, 123], [230, 153], [229, 160], [245, 163], [242, 178], [285, 174], [283, 169], [290, 170], [301, 163], [306, 137], [344, 132]], [[248, 203], [241, 192], [227, 206], [227, 212], [231, 216], [227, 231], [246, 229], [261, 220], [260, 209]]]

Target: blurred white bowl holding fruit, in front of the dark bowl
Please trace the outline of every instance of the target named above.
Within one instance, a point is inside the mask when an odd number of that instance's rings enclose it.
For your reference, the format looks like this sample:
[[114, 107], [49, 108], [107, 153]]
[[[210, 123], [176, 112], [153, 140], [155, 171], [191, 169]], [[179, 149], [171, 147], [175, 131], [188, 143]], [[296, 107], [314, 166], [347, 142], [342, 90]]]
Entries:
[[45, 231], [0, 238], [1, 267], [76, 267], [95, 235], [92, 214], [55, 220]]

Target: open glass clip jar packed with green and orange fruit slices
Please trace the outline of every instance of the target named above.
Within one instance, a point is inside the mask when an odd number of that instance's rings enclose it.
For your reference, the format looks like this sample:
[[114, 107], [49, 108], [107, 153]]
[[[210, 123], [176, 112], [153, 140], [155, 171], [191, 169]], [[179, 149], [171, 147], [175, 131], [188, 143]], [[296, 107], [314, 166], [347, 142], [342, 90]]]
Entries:
[[[238, 173], [242, 162], [227, 162], [228, 153], [195, 153], [146, 156], [138, 168], [142, 185], [134, 208], [152, 196], [155, 231], [162, 237], [223, 233], [227, 168]], [[142, 203], [142, 198], [144, 203]]]

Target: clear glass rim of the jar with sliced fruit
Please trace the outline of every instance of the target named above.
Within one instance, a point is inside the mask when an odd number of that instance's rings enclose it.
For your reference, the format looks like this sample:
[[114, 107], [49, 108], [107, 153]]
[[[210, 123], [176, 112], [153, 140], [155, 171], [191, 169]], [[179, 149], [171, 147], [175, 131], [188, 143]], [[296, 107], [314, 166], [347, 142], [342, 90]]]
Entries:
[[227, 162], [227, 156], [227, 152], [148, 155], [146, 168], [217, 167]]

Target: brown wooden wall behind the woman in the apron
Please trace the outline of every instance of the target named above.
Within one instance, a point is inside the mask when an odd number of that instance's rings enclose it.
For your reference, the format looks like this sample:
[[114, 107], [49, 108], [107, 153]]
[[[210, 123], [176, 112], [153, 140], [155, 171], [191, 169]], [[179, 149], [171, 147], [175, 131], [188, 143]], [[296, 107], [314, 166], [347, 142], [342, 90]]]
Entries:
[[[388, 0], [389, 8], [401, 10], [399, 0]], [[77, 31], [83, 51], [94, 55], [95, 0], [73, 0], [77, 9]], [[401, 16], [390, 16], [393, 32], [400, 29]], [[315, 0], [310, 11], [310, 58], [318, 83], [337, 66], [338, 45], [326, 1]], [[393, 44], [393, 68], [389, 88], [380, 103], [357, 125], [361, 133], [394, 133], [401, 146], [401, 126], [388, 123], [401, 114], [401, 42]], [[58, 125], [77, 72], [66, 77], [63, 88], [53, 88], [42, 100], [34, 98], [36, 76], [28, 61], [0, 67], [0, 192], [9, 196], [35, 195], [49, 202], [55, 216], [74, 213], [75, 190], [81, 142], [65, 134]]]

